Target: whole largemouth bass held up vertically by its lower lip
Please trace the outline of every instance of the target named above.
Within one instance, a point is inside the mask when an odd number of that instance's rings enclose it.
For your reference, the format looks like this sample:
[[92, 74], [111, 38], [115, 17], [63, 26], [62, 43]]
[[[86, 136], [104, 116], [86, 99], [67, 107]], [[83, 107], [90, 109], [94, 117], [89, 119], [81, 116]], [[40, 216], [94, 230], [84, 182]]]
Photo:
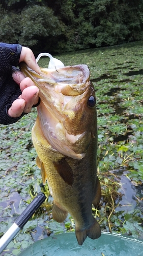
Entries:
[[87, 236], [101, 236], [92, 215], [100, 202], [97, 177], [97, 113], [95, 89], [87, 65], [41, 69], [37, 74], [19, 65], [39, 88], [41, 103], [32, 129], [43, 184], [53, 197], [52, 216], [63, 222], [69, 214], [75, 221], [79, 245]]

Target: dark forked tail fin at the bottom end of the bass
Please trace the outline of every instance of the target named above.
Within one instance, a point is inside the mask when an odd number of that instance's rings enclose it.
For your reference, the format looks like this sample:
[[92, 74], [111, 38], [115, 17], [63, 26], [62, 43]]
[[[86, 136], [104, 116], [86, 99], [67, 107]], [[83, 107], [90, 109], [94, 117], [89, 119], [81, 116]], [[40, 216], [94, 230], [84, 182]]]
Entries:
[[84, 230], [75, 230], [75, 234], [78, 244], [82, 245], [87, 237], [91, 239], [99, 238], [101, 236], [101, 229], [98, 222], [94, 218], [94, 223], [90, 226], [90, 228]]

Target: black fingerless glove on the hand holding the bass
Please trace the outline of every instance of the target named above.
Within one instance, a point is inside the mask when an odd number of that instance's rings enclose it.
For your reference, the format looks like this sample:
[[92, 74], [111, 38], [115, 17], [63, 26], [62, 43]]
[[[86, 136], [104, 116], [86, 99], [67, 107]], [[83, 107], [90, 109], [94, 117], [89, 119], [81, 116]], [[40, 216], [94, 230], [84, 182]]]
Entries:
[[13, 71], [18, 70], [22, 46], [9, 45], [0, 42], [0, 123], [14, 123], [19, 118], [7, 114], [11, 104], [21, 94], [18, 84], [13, 80]]

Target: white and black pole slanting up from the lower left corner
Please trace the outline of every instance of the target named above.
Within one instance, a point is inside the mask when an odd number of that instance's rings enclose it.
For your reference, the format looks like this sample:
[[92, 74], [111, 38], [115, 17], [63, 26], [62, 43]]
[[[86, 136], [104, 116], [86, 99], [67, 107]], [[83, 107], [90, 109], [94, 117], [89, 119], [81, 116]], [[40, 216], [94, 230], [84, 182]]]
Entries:
[[46, 197], [44, 193], [40, 192], [35, 199], [27, 206], [22, 214], [15, 220], [13, 225], [7, 230], [4, 236], [0, 239], [0, 254], [7, 247], [7, 245], [13, 240], [16, 234], [27, 223], [27, 221], [33, 216], [35, 211], [45, 201]]

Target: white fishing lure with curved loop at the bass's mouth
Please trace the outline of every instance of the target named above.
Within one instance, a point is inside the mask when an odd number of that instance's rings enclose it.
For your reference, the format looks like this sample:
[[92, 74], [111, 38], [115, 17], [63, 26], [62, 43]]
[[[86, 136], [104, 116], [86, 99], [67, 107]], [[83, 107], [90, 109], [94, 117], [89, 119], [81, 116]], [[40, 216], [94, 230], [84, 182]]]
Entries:
[[64, 63], [60, 60], [60, 59], [56, 59], [56, 58], [53, 58], [51, 54], [49, 53], [40, 53], [36, 59], [36, 62], [38, 62], [38, 60], [42, 57], [42, 56], [48, 56], [50, 58], [50, 61], [49, 61], [49, 65], [48, 65], [48, 69], [61, 69], [61, 68], [64, 68], [65, 65]]

